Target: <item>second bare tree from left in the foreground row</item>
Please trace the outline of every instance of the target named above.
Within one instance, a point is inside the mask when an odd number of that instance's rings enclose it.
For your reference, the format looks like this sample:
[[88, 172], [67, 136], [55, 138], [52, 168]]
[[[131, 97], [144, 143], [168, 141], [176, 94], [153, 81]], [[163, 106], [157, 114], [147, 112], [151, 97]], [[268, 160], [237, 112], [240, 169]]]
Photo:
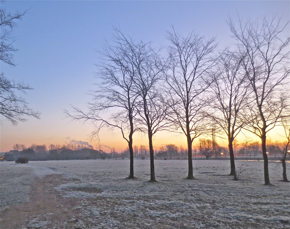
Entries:
[[158, 87], [162, 77], [164, 62], [150, 43], [142, 41], [132, 46], [137, 75], [134, 79], [136, 92], [140, 100], [138, 107], [139, 129], [148, 135], [150, 153], [150, 181], [155, 182], [153, 135], [166, 130], [171, 122], [166, 119], [168, 103], [163, 97], [163, 89]]

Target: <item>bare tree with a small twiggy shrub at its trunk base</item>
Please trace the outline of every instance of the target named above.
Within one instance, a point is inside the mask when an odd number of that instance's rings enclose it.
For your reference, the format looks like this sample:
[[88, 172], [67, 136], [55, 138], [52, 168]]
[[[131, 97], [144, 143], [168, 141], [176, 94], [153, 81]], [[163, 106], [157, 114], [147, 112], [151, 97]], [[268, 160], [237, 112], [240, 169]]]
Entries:
[[216, 125], [226, 134], [231, 162], [230, 175], [235, 175], [233, 141], [243, 126], [248, 123], [242, 110], [249, 96], [248, 81], [242, 69], [244, 56], [241, 53], [225, 50], [218, 58], [212, 72], [214, 102], [210, 104], [214, 112], [209, 113]]

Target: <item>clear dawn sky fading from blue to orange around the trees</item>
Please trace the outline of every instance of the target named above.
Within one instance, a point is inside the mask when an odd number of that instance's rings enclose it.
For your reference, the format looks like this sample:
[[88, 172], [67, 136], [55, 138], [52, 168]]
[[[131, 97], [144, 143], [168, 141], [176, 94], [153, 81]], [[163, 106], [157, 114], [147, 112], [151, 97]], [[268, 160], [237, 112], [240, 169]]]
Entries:
[[[30, 107], [41, 112], [41, 119], [30, 118], [13, 126], [1, 118], [0, 151], [12, 149], [15, 143], [64, 144], [71, 139], [86, 141], [93, 130], [90, 124], [64, 119], [62, 109], [69, 104], [84, 108], [97, 80], [94, 65], [99, 61], [96, 50], [104, 38], [110, 38], [112, 26], [135, 39], [152, 41], [153, 46], [167, 44], [165, 31], [171, 25], [184, 34], [195, 29], [206, 37], [217, 36], [220, 48], [230, 45], [228, 15], [237, 13], [253, 19], [277, 14], [283, 23], [289, 21], [290, 1], [6, 1], [8, 11], [28, 10], [14, 28], [16, 67], [1, 62], [1, 71], [10, 79], [23, 80], [35, 90], [24, 97]], [[289, 34], [289, 26], [285, 31]], [[273, 141], [279, 130], [272, 131]], [[69, 138], [68, 138], [69, 137]], [[241, 139], [243, 136], [241, 136]], [[117, 133], [102, 130], [101, 144], [124, 149], [126, 142]], [[241, 140], [243, 141], [243, 140]], [[224, 141], [225, 142], [225, 141]], [[155, 146], [173, 143], [186, 146], [183, 135], [160, 133]], [[134, 145], [148, 145], [146, 137], [136, 135]], [[95, 143], [92, 143], [95, 147]], [[104, 147], [109, 152], [109, 148]]]

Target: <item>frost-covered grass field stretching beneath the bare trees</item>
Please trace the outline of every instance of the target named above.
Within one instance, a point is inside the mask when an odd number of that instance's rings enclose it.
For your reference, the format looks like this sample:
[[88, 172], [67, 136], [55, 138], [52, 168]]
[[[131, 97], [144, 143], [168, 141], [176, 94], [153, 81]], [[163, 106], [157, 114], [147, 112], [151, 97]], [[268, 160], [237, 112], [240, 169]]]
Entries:
[[[139, 179], [128, 180], [129, 160], [1, 162], [1, 209], [28, 204], [30, 182], [55, 176], [54, 190], [73, 200], [73, 213], [59, 203], [56, 210], [26, 217], [18, 228], [290, 228], [290, 185], [279, 181], [280, 163], [269, 163], [272, 186], [263, 185], [259, 161], [237, 160], [236, 167], [247, 170], [233, 181], [229, 160], [193, 160], [194, 180], [184, 179], [187, 160], [155, 160], [156, 183], [148, 182], [149, 163], [135, 160]], [[53, 221], [61, 214], [69, 215]]]

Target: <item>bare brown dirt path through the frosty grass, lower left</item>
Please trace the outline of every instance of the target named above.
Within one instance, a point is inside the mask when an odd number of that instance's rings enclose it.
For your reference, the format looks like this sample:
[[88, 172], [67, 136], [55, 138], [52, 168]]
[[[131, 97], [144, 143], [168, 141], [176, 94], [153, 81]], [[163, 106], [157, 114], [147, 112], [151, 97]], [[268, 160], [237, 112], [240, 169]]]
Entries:
[[60, 174], [36, 178], [31, 183], [30, 201], [1, 211], [1, 229], [85, 228], [81, 205], [76, 198], [64, 198], [54, 188], [68, 182]]

